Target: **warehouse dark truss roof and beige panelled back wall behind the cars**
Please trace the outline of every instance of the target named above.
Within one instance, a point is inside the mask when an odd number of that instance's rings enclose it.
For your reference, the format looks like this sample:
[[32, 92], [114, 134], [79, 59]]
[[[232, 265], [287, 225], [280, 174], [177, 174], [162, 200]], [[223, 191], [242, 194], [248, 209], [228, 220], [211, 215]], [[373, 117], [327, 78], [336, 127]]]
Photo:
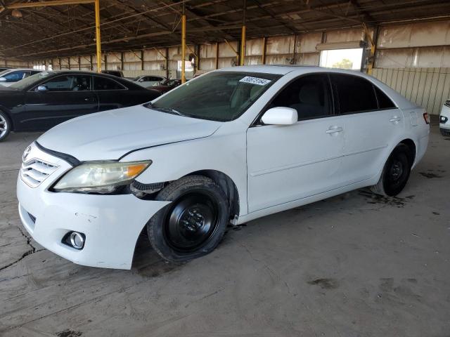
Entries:
[[[20, 9], [14, 5], [21, 1], [7, 2], [0, 10], [0, 66], [97, 70], [93, 1]], [[186, 78], [240, 65], [240, 59], [245, 65], [322, 65], [323, 51], [364, 46], [361, 69], [373, 67], [373, 76], [430, 114], [439, 114], [449, 96], [448, 1], [249, 0], [244, 11], [241, 0], [193, 0], [185, 8], [186, 55], [193, 61]], [[182, 15], [180, 1], [102, 1], [101, 69], [180, 77]], [[437, 91], [423, 90], [435, 85]]]

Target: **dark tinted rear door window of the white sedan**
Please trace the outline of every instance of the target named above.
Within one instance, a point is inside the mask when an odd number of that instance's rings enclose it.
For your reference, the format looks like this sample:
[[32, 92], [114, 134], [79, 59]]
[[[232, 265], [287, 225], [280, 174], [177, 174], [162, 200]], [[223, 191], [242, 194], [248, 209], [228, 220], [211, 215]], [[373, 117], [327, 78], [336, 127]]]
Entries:
[[353, 75], [330, 74], [335, 110], [340, 114], [378, 110], [373, 84]]

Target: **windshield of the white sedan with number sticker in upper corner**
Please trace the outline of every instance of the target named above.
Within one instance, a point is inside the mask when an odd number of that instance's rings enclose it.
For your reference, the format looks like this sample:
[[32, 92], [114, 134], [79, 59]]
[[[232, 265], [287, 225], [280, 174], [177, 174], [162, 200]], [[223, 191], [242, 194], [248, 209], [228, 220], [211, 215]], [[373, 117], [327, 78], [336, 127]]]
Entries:
[[147, 106], [187, 117], [232, 121], [280, 77], [250, 72], [210, 72]]

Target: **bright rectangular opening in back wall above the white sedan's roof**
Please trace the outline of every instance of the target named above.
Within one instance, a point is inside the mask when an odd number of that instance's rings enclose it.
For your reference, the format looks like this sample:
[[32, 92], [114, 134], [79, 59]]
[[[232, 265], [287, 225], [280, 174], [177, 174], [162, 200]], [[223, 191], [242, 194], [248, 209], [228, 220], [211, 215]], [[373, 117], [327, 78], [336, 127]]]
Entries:
[[321, 67], [361, 70], [363, 48], [321, 51]]

